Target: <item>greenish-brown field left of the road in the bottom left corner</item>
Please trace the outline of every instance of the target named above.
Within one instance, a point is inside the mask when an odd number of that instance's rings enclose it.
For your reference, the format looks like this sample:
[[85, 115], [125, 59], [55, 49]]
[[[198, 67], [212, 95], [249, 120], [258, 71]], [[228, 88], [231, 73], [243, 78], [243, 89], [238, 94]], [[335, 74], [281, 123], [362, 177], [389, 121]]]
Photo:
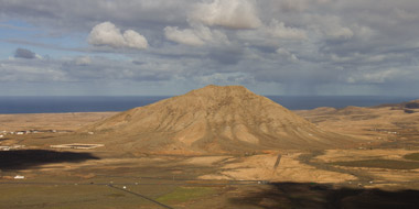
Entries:
[[138, 208], [152, 202], [97, 185], [0, 185], [0, 208]]

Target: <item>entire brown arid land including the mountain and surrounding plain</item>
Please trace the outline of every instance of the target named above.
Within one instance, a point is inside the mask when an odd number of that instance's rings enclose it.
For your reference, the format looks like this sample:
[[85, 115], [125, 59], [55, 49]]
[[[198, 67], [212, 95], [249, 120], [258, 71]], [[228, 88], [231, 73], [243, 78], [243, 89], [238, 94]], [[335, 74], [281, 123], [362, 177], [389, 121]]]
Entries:
[[[120, 113], [4, 114], [0, 146], [24, 146], [0, 152], [0, 208], [417, 208], [418, 107], [290, 111], [208, 86]], [[24, 130], [50, 131], [9, 134]], [[104, 146], [51, 147], [72, 143]]]

